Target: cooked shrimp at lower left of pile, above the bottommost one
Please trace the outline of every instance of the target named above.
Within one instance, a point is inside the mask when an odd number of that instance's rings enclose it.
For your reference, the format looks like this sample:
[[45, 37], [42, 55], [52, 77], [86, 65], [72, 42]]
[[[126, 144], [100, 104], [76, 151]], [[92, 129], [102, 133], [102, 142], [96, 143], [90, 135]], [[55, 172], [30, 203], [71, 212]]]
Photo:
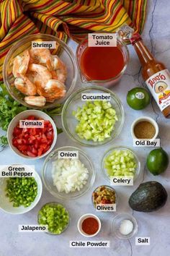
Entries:
[[24, 95], [34, 96], [37, 93], [36, 86], [24, 75], [20, 74], [20, 76], [14, 80], [17, 90]]

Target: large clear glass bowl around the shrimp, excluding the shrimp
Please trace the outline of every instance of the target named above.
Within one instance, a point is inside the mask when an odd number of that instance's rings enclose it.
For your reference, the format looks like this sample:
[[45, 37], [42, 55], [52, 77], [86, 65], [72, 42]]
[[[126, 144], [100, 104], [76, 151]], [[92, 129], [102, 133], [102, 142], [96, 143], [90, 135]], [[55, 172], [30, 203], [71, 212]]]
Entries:
[[[24, 101], [24, 96], [22, 93], [19, 93], [19, 90], [17, 90], [14, 87], [14, 75], [12, 74], [12, 67], [14, 58], [22, 54], [22, 52], [26, 49], [31, 48], [32, 41], [55, 41], [58, 43], [58, 56], [60, 59], [66, 64], [67, 68], [67, 80], [65, 82], [66, 85], [66, 96], [64, 98], [61, 98], [59, 100], [55, 100], [53, 103], [46, 103], [45, 106], [38, 107], [38, 106], [30, 106]], [[56, 49], [50, 49], [51, 54], [56, 54]], [[4, 66], [3, 66], [3, 78], [4, 78], [4, 84], [6, 85], [6, 88], [10, 95], [12, 95], [12, 98], [14, 100], [18, 101], [24, 106], [27, 106], [28, 108], [35, 108], [35, 109], [45, 109], [45, 108], [54, 108], [59, 103], [63, 103], [66, 101], [66, 98], [72, 93], [73, 88], [76, 85], [76, 78], [77, 78], [77, 69], [76, 69], [76, 60], [74, 58], [73, 52], [71, 51], [71, 48], [69, 48], [66, 43], [64, 43], [62, 40], [56, 38], [53, 35], [45, 35], [45, 34], [36, 34], [36, 35], [27, 35], [21, 40], [19, 40], [17, 43], [12, 46], [12, 48], [9, 50], [8, 54], [6, 55], [6, 58], [4, 60]]]

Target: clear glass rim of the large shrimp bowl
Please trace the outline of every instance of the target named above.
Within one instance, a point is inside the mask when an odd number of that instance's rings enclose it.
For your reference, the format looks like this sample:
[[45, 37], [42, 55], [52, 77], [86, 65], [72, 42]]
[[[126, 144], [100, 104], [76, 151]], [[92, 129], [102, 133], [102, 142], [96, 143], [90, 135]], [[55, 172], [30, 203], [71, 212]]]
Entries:
[[[9, 90], [11, 85], [9, 84], [9, 81], [8, 81], [8, 78], [7, 78], [8, 74], [7, 74], [6, 66], [8, 64], [9, 59], [11, 59], [12, 54], [14, 53], [14, 51], [16, 51], [17, 48], [19, 48], [19, 46], [22, 46], [22, 44], [25, 40], [28, 40], [28, 39], [36, 40], [36, 39], [42, 39], [43, 37], [49, 37], [49, 38], [55, 40], [57, 43], [60, 44], [60, 46], [63, 48], [63, 50], [66, 51], [68, 56], [70, 56], [71, 61], [73, 63], [73, 69], [74, 69], [73, 80], [72, 80], [71, 86], [68, 89], [68, 91], [66, 92], [66, 96], [64, 98], [58, 100], [57, 102], [50, 103], [49, 105], [45, 105], [43, 107], [30, 106], [26, 102], [21, 101], [19, 98], [17, 98], [17, 96], [11, 90]], [[78, 71], [77, 71], [77, 68], [76, 68], [76, 58], [75, 58], [71, 48], [69, 46], [67, 46], [67, 44], [64, 43], [61, 39], [55, 37], [54, 35], [48, 35], [48, 34], [42, 34], [42, 33], [38, 33], [38, 34], [35, 34], [35, 35], [26, 35], [26, 36], [24, 36], [24, 38], [18, 40], [17, 43], [15, 43], [14, 46], [12, 46], [12, 48], [10, 48], [9, 52], [6, 54], [4, 64], [3, 64], [3, 80], [4, 80], [4, 83], [6, 84], [6, 89], [8, 90], [9, 94], [12, 95], [12, 98], [14, 98], [15, 101], [19, 102], [23, 106], [26, 106], [27, 108], [47, 109], [47, 108], [54, 108], [56, 105], [58, 105], [60, 103], [63, 103], [64, 101], [66, 101], [66, 99], [69, 97], [69, 95], [71, 95], [71, 93], [73, 92], [73, 89], [75, 88], [75, 85], [76, 85], [77, 76], [78, 76]]]

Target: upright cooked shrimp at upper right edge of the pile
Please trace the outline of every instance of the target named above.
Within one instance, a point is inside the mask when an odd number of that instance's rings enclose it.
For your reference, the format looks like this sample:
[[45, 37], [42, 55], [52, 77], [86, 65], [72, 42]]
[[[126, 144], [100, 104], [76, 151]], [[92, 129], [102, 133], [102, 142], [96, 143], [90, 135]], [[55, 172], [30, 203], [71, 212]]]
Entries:
[[66, 65], [63, 64], [63, 61], [61, 61], [61, 59], [59, 59], [57, 55], [53, 55], [52, 59], [53, 69], [50, 70], [52, 78], [61, 82], [65, 82], [67, 76]]

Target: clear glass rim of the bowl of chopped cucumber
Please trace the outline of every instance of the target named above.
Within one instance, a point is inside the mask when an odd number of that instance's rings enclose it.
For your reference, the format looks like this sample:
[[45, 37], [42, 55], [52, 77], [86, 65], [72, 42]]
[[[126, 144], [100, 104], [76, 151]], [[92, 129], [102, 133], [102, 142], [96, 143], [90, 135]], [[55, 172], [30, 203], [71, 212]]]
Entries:
[[[71, 132], [69, 132], [68, 129], [66, 128], [66, 112], [68, 110], [68, 105], [71, 102], [73, 102], [73, 99], [76, 97], [76, 95], [78, 95], [79, 93], [83, 93], [86, 90], [101, 90], [104, 93], [110, 93], [111, 97], [114, 98], [114, 101], [116, 101], [117, 105], [120, 107], [120, 112], [121, 112], [121, 115], [122, 115], [121, 121], [120, 121], [120, 127], [117, 130], [115, 137], [111, 136], [111, 137], [109, 137], [108, 140], [104, 140], [103, 142], [98, 142], [96, 145], [92, 144], [93, 142], [91, 142], [91, 144], [88, 144], [88, 143], [82, 142], [81, 140], [77, 140], [71, 134]], [[92, 85], [92, 86], [89, 86], [89, 87], [86, 87], [86, 88], [81, 88], [79, 90], [76, 90], [74, 93], [72, 93], [68, 97], [68, 99], [66, 100], [66, 102], [64, 103], [64, 106], [63, 106], [63, 110], [62, 110], [62, 114], [61, 114], [61, 121], [62, 121], [64, 131], [66, 132], [68, 137], [71, 138], [71, 140], [73, 140], [74, 142], [78, 142], [79, 145], [89, 147], [89, 148], [95, 148], [95, 147], [99, 147], [99, 146], [102, 146], [102, 145], [107, 145], [109, 142], [112, 142], [113, 140], [115, 140], [116, 137], [118, 137], [120, 135], [120, 132], [122, 131], [122, 127], [123, 127], [123, 124], [124, 124], [124, 121], [125, 121], [125, 112], [124, 112], [124, 109], [123, 109], [123, 106], [122, 106], [122, 102], [120, 101], [120, 98], [118, 98], [117, 95], [114, 92], [112, 92], [112, 90], [109, 90], [107, 88], [101, 88], [100, 86]], [[112, 132], [114, 132], [114, 131], [112, 131]]]

